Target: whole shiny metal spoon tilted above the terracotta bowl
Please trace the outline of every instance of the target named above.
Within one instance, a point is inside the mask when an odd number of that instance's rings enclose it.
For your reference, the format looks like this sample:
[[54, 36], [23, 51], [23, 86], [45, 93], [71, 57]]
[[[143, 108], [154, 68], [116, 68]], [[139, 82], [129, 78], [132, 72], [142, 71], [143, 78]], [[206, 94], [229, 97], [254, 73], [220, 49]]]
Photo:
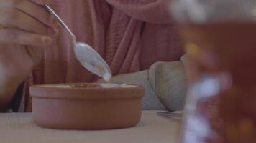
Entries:
[[76, 35], [73, 34], [64, 21], [60, 19], [60, 16], [58, 16], [58, 14], [56, 14], [55, 11], [50, 8], [50, 6], [45, 5], [45, 8], [58, 20], [63, 29], [65, 29], [65, 31], [67, 31], [67, 33], [70, 35], [70, 38], [73, 41], [76, 59], [78, 59], [80, 64], [93, 74], [103, 77], [106, 81], [109, 81], [112, 75], [111, 69], [109, 68], [108, 64], [106, 64], [106, 61], [104, 61], [98, 52], [88, 44], [77, 42]]

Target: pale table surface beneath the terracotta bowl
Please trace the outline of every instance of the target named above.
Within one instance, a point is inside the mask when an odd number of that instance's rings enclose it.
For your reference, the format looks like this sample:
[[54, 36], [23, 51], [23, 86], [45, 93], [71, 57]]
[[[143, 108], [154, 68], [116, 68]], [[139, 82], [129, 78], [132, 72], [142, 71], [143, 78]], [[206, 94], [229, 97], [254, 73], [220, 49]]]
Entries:
[[180, 121], [142, 112], [136, 127], [127, 129], [77, 131], [45, 129], [33, 122], [32, 114], [0, 114], [1, 143], [177, 143]]

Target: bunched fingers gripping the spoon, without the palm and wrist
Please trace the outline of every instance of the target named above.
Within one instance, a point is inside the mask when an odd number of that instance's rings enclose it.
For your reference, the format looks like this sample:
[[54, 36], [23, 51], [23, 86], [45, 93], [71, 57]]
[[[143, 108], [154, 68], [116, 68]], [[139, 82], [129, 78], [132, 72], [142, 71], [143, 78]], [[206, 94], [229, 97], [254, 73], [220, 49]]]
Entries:
[[47, 46], [57, 32], [57, 21], [43, 5], [45, 0], [0, 0], [0, 43]]

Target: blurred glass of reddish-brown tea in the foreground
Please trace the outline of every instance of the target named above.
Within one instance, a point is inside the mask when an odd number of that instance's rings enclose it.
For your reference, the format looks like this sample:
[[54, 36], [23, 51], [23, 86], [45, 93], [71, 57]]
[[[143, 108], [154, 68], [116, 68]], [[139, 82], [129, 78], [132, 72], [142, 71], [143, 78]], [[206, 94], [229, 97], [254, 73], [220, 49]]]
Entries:
[[188, 54], [182, 143], [256, 142], [256, 1], [172, 0]]

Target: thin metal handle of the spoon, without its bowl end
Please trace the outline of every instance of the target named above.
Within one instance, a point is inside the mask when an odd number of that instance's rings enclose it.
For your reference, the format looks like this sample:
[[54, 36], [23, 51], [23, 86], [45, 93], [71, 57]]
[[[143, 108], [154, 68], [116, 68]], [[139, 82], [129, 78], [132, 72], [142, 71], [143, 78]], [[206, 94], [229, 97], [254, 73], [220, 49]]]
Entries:
[[58, 22], [60, 23], [60, 25], [63, 26], [63, 28], [65, 29], [65, 31], [67, 31], [68, 34], [71, 36], [71, 38], [73, 39], [73, 42], [75, 42], [75, 41], [76, 41], [76, 36], [75, 36], [75, 34], [73, 34], [73, 32], [68, 28], [68, 26], [65, 24], [65, 22], [64, 22], [62, 19], [60, 19], [60, 16], [58, 16], [58, 14], [56, 14], [55, 11], [53, 11], [53, 10], [50, 8], [50, 6], [45, 5], [45, 8], [47, 9], [47, 11], [50, 12], [50, 14], [52, 14], [52, 16], [55, 17], [55, 19], [58, 20]]

